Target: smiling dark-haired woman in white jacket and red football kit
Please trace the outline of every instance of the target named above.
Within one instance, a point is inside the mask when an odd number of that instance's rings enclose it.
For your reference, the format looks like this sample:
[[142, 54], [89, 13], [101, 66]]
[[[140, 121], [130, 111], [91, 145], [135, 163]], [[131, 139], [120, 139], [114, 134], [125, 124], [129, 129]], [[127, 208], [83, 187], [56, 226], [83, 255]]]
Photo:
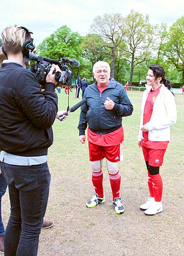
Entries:
[[164, 68], [151, 65], [146, 76], [147, 86], [141, 103], [138, 146], [142, 147], [146, 161], [150, 197], [140, 206], [146, 215], [161, 213], [162, 178], [159, 167], [170, 142], [170, 126], [176, 123], [176, 103], [165, 79]]

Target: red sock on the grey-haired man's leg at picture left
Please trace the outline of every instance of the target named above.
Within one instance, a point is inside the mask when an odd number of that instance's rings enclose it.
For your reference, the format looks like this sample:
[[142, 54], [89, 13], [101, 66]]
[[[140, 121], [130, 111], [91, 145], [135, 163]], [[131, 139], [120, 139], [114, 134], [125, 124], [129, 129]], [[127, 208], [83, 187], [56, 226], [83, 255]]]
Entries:
[[98, 171], [97, 173], [92, 171], [92, 182], [94, 186], [95, 193], [98, 197], [103, 198], [103, 171]]

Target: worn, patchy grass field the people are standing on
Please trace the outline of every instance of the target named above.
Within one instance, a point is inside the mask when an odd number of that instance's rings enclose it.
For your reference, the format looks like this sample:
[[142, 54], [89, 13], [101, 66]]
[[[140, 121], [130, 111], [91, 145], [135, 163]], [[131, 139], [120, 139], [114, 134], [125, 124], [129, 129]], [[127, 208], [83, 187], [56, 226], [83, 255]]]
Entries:
[[[41, 232], [39, 256], [49, 255], [184, 255], [183, 250], [183, 107], [184, 95], [176, 95], [177, 123], [171, 127], [171, 142], [165, 153], [161, 175], [164, 183], [164, 211], [145, 216], [139, 206], [148, 194], [147, 174], [141, 149], [137, 146], [142, 92], [128, 92], [134, 110], [123, 118], [124, 161], [120, 163], [122, 215], [112, 207], [111, 187], [104, 170], [106, 202], [93, 209], [85, 203], [93, 195], [88, 145], [78, 137], [80, 110], [66, 121], [54, 123], [54, 144], [49, 149], [52, 181], [45, 219], [54, 227]], [[59, 109], [67, 108], [67, 97], [58, 94]], [[76, 104], [70, 93], [70, 107]], [[6, 225], [8, 193], [2, 202]]]

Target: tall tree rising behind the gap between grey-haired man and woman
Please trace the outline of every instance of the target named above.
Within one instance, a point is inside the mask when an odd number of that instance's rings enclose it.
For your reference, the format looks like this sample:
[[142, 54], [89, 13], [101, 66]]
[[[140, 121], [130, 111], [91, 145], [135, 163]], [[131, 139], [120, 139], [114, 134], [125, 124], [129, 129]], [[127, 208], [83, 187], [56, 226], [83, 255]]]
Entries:
[[122, 58], [130, 62], [130, 81], [132, 85], [133, 69], [150, 57], [153, 43], [153, 26], [149, 24], [149, 16], [130, 11], [124, 20], [126, 48], [121, 50]]

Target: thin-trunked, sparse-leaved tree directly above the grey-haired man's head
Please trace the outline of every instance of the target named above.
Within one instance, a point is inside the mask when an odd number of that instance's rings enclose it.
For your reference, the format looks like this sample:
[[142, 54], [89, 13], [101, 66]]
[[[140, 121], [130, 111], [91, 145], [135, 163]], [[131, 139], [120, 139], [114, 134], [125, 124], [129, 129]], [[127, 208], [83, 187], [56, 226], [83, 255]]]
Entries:
[[123, 35], [124, 19], [120, 13], [106, 13], [103, 16], [96, 16], [91, 25], [91, 30], [99, 34], [106, 42], [106, 47], [111, 49], [111, 76], [114, 77], [115, 50], [120, 45]]

